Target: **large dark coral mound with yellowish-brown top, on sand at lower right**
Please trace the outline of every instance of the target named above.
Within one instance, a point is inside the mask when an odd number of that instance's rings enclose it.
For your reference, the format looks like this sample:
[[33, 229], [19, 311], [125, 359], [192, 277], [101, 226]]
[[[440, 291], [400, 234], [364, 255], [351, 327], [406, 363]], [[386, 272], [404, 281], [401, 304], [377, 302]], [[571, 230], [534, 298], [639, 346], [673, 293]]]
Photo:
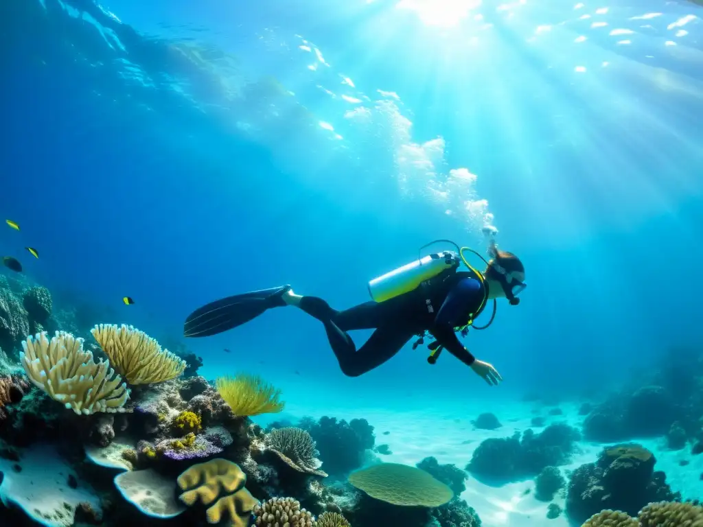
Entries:
[[654, 471], [654, 455], [635, 443], [604, 448], [595, 463], [574, 470], [569, 479], [566, 510], [570, 519], [586, 521], [602, 509], [636, 515], [650, 502], [678, 499], [666, 475]]

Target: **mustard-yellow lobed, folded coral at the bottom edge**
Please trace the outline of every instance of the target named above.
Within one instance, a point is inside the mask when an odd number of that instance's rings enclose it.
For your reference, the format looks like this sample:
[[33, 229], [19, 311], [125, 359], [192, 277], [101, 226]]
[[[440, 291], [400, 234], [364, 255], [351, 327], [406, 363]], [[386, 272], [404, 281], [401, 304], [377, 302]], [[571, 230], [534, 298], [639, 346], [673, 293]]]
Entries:
[[[231, 527], [246, 527], [257, 500], [244, 487], [247, 476], [238, 464], [217, 458], [194, 464], [178, 478], [184, 492], [179, 499], [190, 507], [196, 501], [208, 507], [208, 523], [220, 523], [228, 516]], [[219, 498], [219, 499], [218, 499]]]

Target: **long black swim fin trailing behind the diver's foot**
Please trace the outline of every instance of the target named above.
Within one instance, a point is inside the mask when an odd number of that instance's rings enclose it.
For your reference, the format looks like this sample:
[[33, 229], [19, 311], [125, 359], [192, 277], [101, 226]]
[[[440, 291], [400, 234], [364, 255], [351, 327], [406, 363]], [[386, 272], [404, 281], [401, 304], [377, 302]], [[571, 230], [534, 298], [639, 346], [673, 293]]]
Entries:
[[183, 337], [209, 337], [247, 323], [269, 308], [285, 306], [281, 296], [288, 291], [290, 285], [281, 285], [210, 302], [188, 315]]

